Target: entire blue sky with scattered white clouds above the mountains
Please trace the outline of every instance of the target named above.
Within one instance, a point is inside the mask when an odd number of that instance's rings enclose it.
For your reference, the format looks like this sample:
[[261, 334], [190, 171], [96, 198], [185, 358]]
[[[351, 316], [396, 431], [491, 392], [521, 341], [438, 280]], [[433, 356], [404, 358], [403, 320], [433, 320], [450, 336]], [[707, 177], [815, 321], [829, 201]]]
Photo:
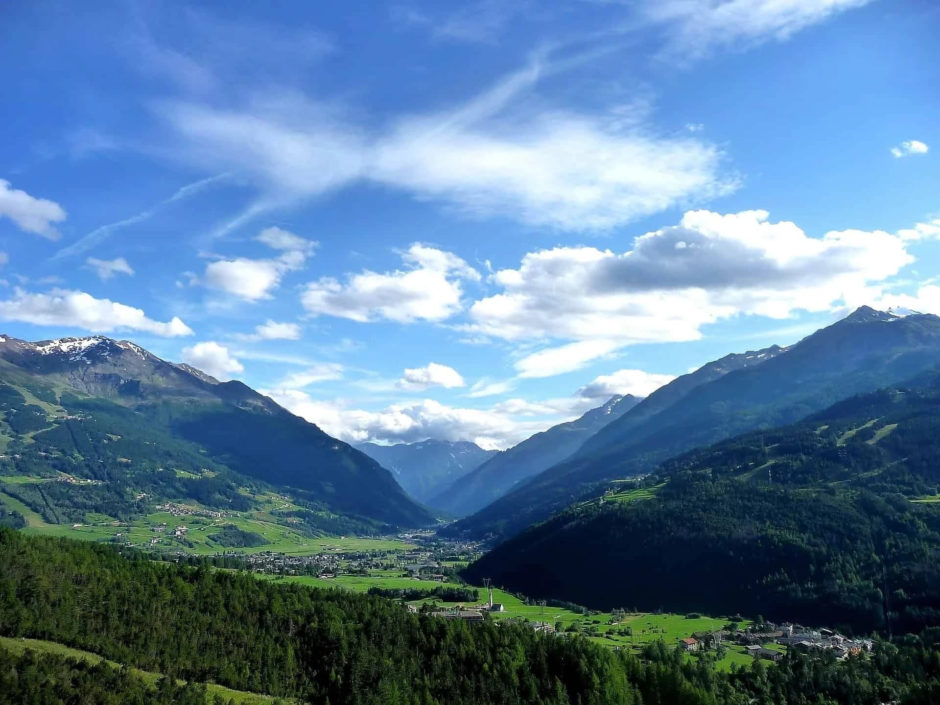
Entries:
[[505, 448], [940, 314], [933, 0], [5, 3], [0, 333]]

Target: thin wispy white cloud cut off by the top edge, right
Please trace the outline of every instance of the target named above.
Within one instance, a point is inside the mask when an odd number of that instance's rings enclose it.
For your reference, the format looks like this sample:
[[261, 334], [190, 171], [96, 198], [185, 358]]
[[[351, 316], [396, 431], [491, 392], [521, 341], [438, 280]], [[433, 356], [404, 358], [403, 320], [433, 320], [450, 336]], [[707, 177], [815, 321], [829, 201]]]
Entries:
[[666, 25], [663, 55], [687, 62], [713, 49], [746, 49], [789, 39], [870, 0], [645, 0], [648, 19]]

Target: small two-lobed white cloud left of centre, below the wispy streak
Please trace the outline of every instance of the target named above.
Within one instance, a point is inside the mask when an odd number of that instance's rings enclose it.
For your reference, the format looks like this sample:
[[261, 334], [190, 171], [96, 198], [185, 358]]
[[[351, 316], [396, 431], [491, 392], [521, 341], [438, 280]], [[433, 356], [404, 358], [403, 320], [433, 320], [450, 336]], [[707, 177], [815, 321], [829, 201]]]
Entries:
[[305, 240], [279, 227], [268, 227], [255, 238], [281, 255], [270, 259], [219, 259], [206, 266], [206, 286], [227, 291], [245, 301], [270, 299], [272, 290], [280, 286], [281, 278], [302, 269], [307, 256], [317, 243]]

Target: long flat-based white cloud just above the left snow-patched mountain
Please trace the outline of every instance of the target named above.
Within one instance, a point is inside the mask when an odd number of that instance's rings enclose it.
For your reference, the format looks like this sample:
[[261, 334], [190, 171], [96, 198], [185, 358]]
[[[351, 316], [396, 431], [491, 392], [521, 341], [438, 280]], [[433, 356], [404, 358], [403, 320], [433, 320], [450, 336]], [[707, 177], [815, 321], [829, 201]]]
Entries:
[[83, 328], [93, 333], [133, 330], [160, 337], [193, 335], [192, 329], [176, 316], [168, 322], [153, 321], [139, 308], [96, 299], [85, 291], [62, 289], [29, 293], [18, 288], [13, 298], [0, 301], [0, 320]]

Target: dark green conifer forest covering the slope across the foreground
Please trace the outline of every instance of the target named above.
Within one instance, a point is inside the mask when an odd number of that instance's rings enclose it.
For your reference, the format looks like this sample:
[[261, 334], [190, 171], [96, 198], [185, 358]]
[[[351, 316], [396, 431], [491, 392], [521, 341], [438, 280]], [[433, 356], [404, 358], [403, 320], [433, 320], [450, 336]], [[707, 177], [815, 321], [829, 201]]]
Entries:
[[169, 675], [153, 688], [132, 669], [0, 648], [3, 702], [205, 702], [202, 686], [174, 678], [332, 705], [926, 705], [940, 692], [938, 630], [845, 661], [793, 650], [724, 673], [710, 654], [690, 660], [662, 641], [637, 656], [582, 635], [411, 614], [384, 598], [2, 527], [0, 580], [0, 635], [15, 644], [44, 638]]

